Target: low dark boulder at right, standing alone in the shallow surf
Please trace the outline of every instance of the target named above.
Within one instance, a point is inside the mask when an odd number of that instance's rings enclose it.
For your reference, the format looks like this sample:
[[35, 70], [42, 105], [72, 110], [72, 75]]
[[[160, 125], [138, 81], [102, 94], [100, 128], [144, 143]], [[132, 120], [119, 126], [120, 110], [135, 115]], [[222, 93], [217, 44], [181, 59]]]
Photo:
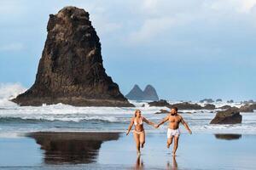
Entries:
[[210, 124], [236, 124], [241, 123], [241, 115], [239, 110], [234, 107], [226, 111], [218, 111]]

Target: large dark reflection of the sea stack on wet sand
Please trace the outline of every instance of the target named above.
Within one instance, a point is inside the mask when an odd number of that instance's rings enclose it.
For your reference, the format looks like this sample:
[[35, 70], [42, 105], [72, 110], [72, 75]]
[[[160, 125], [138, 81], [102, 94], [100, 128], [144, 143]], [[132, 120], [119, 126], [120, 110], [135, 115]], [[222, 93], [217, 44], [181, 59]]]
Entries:
[[48, 164], [96, 161], [103, 142], [119, 139], [119, 133], [39, 132], [27, 136], [41, 145]]

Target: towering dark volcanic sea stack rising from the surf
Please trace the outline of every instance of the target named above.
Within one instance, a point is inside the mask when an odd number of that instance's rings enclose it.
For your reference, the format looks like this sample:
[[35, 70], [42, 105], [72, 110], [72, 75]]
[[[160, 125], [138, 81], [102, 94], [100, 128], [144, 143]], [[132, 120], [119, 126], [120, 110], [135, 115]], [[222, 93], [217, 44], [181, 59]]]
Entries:
[[75, 7], [50, 14], [36, 81], [15, 103], [133, 106], [102, 65], [101, 43], [89, 13]]

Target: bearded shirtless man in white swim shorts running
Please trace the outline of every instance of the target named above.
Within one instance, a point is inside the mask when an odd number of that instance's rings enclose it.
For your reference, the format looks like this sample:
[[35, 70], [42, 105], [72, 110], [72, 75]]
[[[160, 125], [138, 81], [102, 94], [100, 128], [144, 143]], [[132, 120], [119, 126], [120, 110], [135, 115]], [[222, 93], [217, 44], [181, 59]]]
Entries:
[[163, 119], [162, 122], [160, 122], [155, 127], [160, 127], [161, 124], [164, 124], [165, 122], [169, 121], [169, 127], [167, 131], [167, 148], [170, 147], [172, 144], [172, 140], [174, 138], [174, 146], [172, 151], [172, 156], [176, 156], [176, 150], [177, 150], [177, 144], [178, 144], [178, 137], [180, 135], [179, 131], [179, 123], [181, 122], [183, 126], [189, 131], [191, 134], [191, 130], [189, 129], [189, 126], [186, 122], [184, 122], [183, 117], [177, 114], [177, 107], [172, 107], [172, 110], [170, 112], [171, 114], [166, 116], [166, 118]]

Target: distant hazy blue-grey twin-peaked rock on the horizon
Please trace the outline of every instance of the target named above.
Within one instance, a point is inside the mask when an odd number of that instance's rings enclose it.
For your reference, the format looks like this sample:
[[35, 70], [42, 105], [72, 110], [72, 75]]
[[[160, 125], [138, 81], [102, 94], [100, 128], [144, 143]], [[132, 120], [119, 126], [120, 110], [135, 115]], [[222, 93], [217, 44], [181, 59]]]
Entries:
[[132, 100], [153, 100], [158, 101], [159, 97], [156, 90], [152, 85], [147, 85], [144, 90], [142, 90], [137, 84], [131, 89], [131, 91], [125, 95], [127, 99]]

